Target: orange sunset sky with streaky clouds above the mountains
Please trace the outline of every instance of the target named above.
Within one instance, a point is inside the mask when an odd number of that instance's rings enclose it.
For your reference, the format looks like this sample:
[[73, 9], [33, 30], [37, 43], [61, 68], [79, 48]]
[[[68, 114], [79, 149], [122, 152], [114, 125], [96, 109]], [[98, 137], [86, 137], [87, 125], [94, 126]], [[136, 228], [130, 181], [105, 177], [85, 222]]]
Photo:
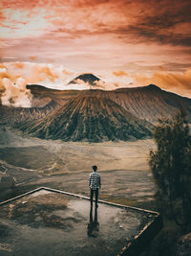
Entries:
[[107, 82], [106, 89], [156, 83], [191, 97], [189, 0], [1, 0], [0, 5], [1, 78], [64, 86], [91, 72]]

